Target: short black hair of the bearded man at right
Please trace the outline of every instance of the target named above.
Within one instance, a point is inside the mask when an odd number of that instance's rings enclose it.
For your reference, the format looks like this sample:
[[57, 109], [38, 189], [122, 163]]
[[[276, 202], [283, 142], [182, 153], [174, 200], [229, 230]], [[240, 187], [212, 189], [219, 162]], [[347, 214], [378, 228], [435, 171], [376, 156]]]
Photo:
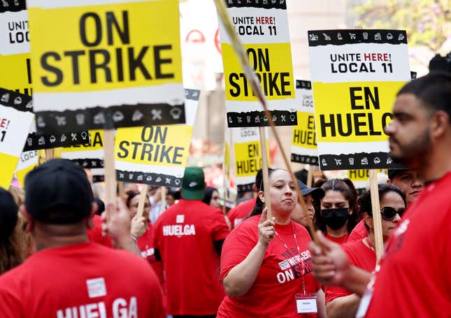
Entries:
[[444, 110], [451, 118], [451, 73], [431, 71], [404, 85], [397, 96], [401, 94], [413, 94], [430, 110]]

